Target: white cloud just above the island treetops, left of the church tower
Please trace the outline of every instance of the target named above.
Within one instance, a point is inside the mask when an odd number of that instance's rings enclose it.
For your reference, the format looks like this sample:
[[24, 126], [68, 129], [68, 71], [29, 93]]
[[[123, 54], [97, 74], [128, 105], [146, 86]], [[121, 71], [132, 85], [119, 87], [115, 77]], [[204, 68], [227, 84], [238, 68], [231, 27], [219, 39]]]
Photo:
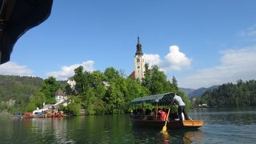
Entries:
[[62, 66], [62, 70], [52, 71], [46, 74], [48, 77], [53, 76], [58, 80], [67, 80], [74, 75], [74, 69], [78, 68], [78, 66], [83, 66], [86, 71], [94, 71], [94, 61], [86, 61], [82, 62], [82, 64], [74, 64], [71, 66]]

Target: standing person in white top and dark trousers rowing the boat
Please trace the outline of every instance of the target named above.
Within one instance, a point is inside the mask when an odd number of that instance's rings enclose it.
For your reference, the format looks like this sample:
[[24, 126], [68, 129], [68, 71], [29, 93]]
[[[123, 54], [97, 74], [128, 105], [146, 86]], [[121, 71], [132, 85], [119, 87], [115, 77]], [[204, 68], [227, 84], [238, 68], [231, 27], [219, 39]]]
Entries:
[[182, 113], [184, 114], [185, 119], [188, 120], [189, 118], [188, 118], [188, 116], [186, 114], [185, 102], [183, 102], [182, 98], [178, 94], [174, 95], [174, 100], [171, 103], [171, 105], [173, 105], [174, 103], [178, 105], [178, 117], [179, 117], [179, 120], [180, 121], [183, 120]]

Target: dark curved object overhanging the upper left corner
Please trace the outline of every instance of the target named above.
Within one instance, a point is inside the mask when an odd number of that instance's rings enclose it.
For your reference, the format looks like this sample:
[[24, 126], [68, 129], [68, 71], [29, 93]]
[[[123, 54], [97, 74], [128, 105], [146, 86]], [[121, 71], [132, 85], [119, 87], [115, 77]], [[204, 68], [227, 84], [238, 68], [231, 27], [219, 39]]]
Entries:
[[0, 0], [0, 65], [10, 61], [22, 34], [50, 16], [52, 4], [53, 0]]

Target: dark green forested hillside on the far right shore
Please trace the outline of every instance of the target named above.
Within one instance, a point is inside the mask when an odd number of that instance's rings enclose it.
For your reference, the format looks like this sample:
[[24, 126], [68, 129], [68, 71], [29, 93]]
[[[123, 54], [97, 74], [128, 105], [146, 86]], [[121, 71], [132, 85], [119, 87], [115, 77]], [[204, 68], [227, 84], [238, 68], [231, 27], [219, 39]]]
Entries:
[[255, 106], [256, 81], [238, 80], [237, 84], [226, 83], [216, 90], [208, 90], [196, 101], [197, 105], [202, 103], [208, 106]]

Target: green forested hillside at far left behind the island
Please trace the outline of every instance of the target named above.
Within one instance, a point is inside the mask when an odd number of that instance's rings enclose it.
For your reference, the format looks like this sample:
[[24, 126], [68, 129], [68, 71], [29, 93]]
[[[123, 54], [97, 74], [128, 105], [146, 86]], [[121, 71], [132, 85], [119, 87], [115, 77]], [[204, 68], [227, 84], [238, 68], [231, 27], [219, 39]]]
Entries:
[[0, 110], [26, 106], [42, 87], [42, 78], [0, 75]]

